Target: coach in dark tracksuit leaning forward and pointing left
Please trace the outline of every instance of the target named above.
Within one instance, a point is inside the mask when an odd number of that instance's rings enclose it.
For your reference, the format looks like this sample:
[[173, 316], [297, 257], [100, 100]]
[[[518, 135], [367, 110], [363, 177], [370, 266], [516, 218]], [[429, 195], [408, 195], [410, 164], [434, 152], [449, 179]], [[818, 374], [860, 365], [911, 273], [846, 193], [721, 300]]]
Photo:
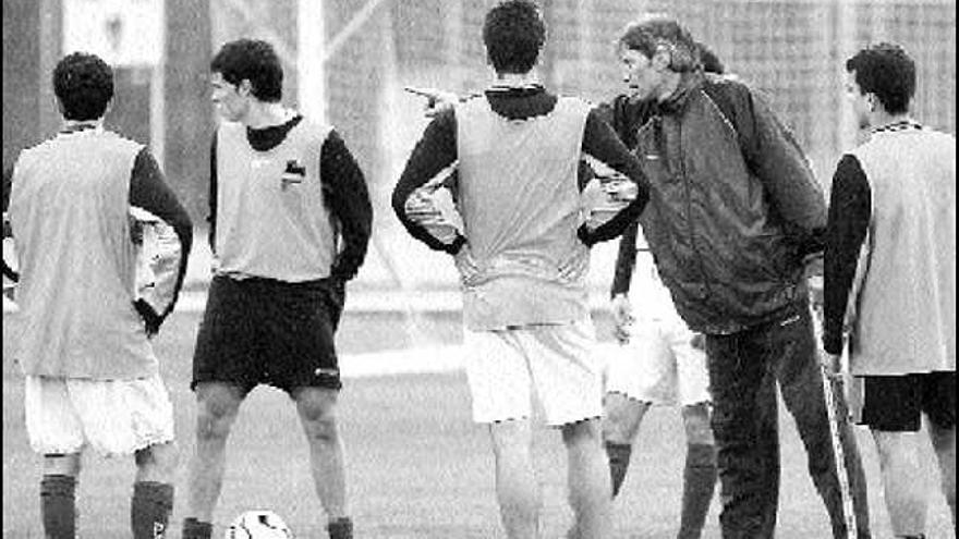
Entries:
[[[611, 122], [652, 185], [640, 223], [673, 305], [706, 335], [723, 535], [775, 532], [778, 382], [833, 534], [845, 538], [804, 277], [822, 249], [822, 187], [764, 98], [739, 81], [702, 73], [695, 41], [678, 22], [629, 24], [618, 42], [630, 91], [614, 101]], [[859, 535], [869, 537], [850, 426], [841, 439]]]

